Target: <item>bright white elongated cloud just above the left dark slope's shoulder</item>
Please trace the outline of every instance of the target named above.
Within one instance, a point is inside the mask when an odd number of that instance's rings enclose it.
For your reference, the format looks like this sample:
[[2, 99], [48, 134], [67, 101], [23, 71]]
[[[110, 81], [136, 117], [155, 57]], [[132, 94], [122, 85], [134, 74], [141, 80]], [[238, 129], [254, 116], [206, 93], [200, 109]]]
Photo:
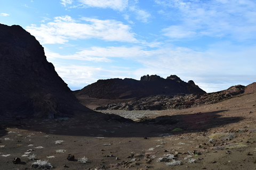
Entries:
[[58, 16], [54, 22], [47, 24], [30, 25], [26, 30], [34, 35], [41, 44], [64, 44], [69, 39], [98, 38], [106, 41], [122, 41], [138, 43], [135, 33], [129, 25], [116, 20], [99, 20], [82, 18], [73, 20], [70, 16]]

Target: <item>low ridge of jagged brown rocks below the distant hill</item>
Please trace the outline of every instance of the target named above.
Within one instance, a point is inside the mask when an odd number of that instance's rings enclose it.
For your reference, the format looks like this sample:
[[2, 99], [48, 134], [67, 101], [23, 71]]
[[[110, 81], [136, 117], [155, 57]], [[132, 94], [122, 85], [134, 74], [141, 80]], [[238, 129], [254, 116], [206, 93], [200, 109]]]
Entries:
[[[212, 92], [209, 94], [183, 94], [183, 95], [157, 95], [133, 100], [126, 103], [111, 103], [106, 106], [95, 108], [96, 110], [119, 109], [119, 110], [165, 110], [184, 109], [204, 104], [213, 104], [230, 97], [243, 94], [249, 86], [232, 86], [227, 90]], [[255, 89], [255, 88], [254, 88]]]

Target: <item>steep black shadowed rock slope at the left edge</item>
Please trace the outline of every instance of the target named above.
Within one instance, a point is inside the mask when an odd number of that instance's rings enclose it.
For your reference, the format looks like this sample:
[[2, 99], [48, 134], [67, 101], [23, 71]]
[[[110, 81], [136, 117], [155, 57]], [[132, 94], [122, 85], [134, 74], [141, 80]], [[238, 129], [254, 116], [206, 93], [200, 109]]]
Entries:
[[0, 24], [0, 72], [0, 115], [53, 118], [82, 107], [44, 48], [19, 25]]

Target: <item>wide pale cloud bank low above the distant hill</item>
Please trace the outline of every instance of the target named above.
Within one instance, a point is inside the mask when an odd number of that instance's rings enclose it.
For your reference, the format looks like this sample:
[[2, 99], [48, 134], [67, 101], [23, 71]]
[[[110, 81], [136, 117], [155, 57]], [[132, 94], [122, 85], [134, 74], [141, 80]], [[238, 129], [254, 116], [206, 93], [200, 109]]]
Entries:
[[[236, 84], [252, 83], [256, 73], [255, 46], [234, 46], [228, 42], [212, 45], [209, 50], [201, 52], [165, 45], [155, 50], [146, 50], [140, 46], [91, 47], [71, 55], [60, 55], [48, 50], [45, 53], [53, 63], [58, 58], [86, 61], [86, 65], [101, 62], [97, 64], [100, 65], [98, 67], [54, 64], [65, 82], [69, 85], [79, 84], [81, 88], [98, 79], [139, 80], [146, 74], [157, 74], [164, 78], [176, 74], [184, 81], [194, 80], [202, 89], [213, 92]], [[128, 64], [123, 61], [121, 63], [120, 60], [125, 60]], [[136, 66], [129, 64], [131, 61]], [[108, 63], [104, 64], [106, 62]]]

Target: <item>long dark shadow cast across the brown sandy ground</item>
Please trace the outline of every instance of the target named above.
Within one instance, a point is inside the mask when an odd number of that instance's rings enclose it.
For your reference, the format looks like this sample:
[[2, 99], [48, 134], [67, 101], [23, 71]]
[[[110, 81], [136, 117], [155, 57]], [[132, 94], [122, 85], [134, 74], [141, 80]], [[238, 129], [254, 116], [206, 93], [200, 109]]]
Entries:
[[[242, 117], [222, 117], [219, 113], [227, 110], [196, 114], [159, 116], [143, 122], [121, 121], [120, 116], [96, 113], [77, 114], [75, 117], [59, 120], [20, 120], [12, 122], [10, 127], [47, 134], [83, 136], [83, 137], [158, 137], [169, 133], [203, 132], [207, 129], [236, 123]], [[7, 126], [7, 125], [6, 125]], [[180, 128], [182, 131], [172, 131]]]

